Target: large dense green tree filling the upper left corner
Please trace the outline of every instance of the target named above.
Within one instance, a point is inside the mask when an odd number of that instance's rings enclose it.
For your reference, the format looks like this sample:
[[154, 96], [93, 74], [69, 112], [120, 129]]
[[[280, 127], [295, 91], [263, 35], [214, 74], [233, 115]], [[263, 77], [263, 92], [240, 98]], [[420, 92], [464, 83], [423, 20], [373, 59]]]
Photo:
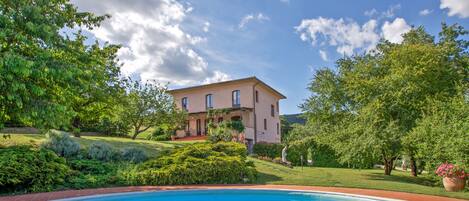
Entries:
[[93, 29], [108, 16], [78, 12], [68, 0], [5, 0], [0, 13], [0, 127], [9, 121], [68, 127], [80, 105], [94, 102], [90, 92], [112, 88], [119, 47], [85, 45], [75, 31]]

